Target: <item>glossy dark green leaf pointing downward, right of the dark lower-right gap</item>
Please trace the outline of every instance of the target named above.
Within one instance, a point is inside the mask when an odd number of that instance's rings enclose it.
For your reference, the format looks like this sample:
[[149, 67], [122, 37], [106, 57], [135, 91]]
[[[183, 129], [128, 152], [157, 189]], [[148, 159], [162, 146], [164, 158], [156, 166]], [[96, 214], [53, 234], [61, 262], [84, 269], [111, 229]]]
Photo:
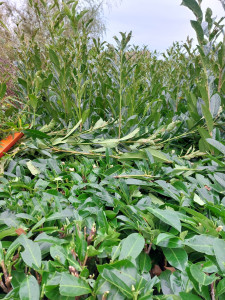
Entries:
[[164, 248], [163, 253], [171, 266], [184, 272], [188, 262], [188, 256], [184, 249]]

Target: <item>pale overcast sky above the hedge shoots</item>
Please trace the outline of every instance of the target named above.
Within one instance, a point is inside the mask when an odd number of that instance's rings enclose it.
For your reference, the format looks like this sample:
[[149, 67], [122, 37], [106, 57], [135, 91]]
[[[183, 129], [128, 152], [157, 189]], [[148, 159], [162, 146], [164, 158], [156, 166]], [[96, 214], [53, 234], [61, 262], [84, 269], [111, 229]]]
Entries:
[[[113, 0], [112, 0], [113, 1]], [[151, 50], [163, 51], [173, 41], [195, 37], [190, 20], [191, 11], [180, 6], [181, 0], [122, 0], [121, 4], [105, 9], [107, 33], [104, 39], [113, 42], [120, 31], [132, 30], [133, 44], [148, 45]], [[210, 7], [214, 16], [222, 17], [225, 11], [219, 0], [203, 0], [203, 8]]]

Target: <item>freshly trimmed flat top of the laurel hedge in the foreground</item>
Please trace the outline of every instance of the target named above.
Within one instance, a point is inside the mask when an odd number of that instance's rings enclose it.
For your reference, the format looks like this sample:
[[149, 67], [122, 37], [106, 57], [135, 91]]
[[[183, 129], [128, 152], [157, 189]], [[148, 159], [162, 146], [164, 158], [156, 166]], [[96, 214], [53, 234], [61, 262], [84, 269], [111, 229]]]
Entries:
[[10, 162], [0, 185], [6, 299], [211, 299], [211, 284], [223, 294], [224, 163], [146, 154]]

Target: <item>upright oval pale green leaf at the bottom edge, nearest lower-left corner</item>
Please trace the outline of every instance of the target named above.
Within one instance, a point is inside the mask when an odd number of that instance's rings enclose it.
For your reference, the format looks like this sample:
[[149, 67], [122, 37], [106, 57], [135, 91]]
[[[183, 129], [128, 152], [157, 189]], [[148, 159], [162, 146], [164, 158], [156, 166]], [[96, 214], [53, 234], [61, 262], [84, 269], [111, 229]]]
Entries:
[[32, 275], [26, 276], [19, 289], [21, 300], [39, 300], [40, 288], [36, 278]]

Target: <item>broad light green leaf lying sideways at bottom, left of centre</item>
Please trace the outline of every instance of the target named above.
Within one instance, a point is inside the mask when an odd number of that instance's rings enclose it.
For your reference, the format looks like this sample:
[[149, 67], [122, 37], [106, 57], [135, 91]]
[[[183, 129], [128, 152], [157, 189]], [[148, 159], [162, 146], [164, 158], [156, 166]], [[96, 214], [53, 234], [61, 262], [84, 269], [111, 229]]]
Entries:
[[91, 293], [89, 285], [83, 279], [67, 273], [62, 274], [59, 291], [62, 296], [67, 297], [77, 297]]

